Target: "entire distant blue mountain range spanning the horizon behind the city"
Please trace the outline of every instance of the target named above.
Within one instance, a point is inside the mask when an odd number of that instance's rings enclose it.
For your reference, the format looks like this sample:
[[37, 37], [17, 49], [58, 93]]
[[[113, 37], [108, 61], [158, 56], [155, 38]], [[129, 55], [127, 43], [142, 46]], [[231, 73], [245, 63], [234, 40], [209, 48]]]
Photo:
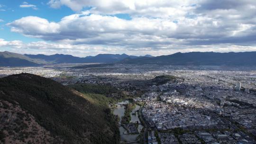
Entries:
[[39, 66], [60, 63], [123, 63], [159, 65], [227, 65], [256, 66], [256, 52], [190, 52], [175, 53], [153, 57], [127, 54], [98, 54], [96, 56], [76, 57], [67, 54], [16, 54], [0, 52], [0, 66]]

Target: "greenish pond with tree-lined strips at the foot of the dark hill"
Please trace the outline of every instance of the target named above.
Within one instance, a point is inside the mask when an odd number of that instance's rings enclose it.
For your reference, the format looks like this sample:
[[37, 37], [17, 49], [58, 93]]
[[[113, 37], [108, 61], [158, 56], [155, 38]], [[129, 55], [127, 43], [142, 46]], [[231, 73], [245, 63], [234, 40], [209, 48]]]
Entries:
[[[124, 112], [125, 112], [125, 106], [124, 105], [128, 104], [128, 103], [130, 103], [128, 100], [124, 100], [122, 102], [116, 103], [117, 108], [114, 109], [113, 114], [118, 115], [118, 117], [120, 118], [120, 120], [119, 120], [119, 131], [120, 131], [121, 141], [134, 142], [134, 141], [137, 140], [137, 136], [139, 134], [128, 134], [127, 130], [123, 126], [120, 126], [121, 117], [124, 116]], [[140, 109], [140, 106], [136, 104], [136, 108], [134, 108], [132, 110], [132, 112], [130, 113], [130, 116], [131, 116], [130, 122], [135, 123], [135, 122], [138, 121], [138, 123], [139, 123], [138, 132], [140, 133], [143, 126], [140, 124], [140, 120], [138, 118], [137, 110], [139, 110], [139, 109]], [[137, 143], [134, 143], [134, 144], [137, 144]]]

